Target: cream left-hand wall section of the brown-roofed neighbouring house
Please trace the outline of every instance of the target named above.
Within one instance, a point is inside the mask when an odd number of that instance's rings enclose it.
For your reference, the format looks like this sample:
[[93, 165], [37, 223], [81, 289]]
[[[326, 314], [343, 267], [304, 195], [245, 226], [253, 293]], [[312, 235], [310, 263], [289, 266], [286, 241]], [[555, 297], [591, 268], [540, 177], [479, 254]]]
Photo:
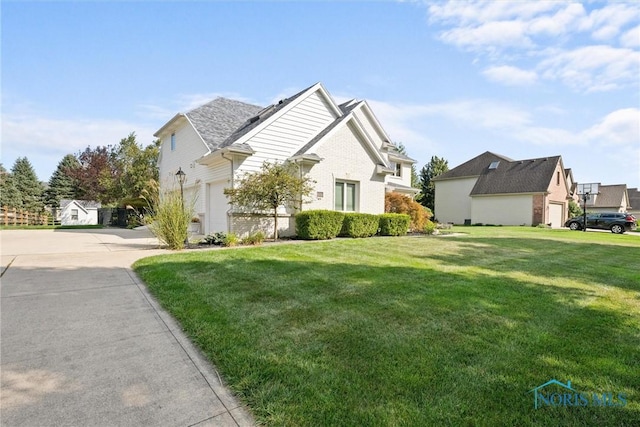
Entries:
[[438, 221], [464, 224], [465, 219], [471, 219], [469, 194], [476, 181], [473, 177], [435, 182], [434, 215]]

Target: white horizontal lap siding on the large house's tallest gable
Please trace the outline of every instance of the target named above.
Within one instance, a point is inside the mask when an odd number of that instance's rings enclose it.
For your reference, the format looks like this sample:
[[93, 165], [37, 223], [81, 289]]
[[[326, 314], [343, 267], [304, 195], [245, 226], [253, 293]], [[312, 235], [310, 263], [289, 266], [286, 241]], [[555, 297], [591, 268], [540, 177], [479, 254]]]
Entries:
[[244, 162], [241, 170], [257, 171], [265, 161], [284, 161], [335, 118], [319, 92], [312, 93], [247, 141], [256, 153]]

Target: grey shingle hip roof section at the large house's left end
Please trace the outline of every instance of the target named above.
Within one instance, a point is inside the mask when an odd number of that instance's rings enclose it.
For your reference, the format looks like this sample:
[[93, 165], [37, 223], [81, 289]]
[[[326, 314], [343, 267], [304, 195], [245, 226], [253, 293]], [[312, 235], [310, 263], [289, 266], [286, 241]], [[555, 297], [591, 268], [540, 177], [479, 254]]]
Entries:
[[209, 149], [219, 148], [228, 137], [262, 107], [233, 99], [216, 98], [195, 108], [186, 116], [191, 120]]

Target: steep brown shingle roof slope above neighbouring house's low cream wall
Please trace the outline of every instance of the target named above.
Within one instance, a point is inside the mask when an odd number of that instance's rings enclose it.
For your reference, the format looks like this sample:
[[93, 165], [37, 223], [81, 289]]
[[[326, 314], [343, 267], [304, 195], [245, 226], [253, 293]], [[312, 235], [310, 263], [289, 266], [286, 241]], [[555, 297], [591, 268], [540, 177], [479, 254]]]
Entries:
[[472, 196], [487, 194], [541, 193], [547, 191], [560, 156], [520, 161], [500, 161], [497, 168], [485, 163]]

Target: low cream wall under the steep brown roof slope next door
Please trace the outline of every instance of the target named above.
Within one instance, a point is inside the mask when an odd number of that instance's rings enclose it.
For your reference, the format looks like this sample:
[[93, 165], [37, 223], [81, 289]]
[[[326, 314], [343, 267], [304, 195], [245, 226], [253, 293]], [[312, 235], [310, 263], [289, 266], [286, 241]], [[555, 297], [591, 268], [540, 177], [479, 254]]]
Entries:
[[476, 196], [471, 201], [471, 223], [531, 225], [532, 210], [531, 195]]

